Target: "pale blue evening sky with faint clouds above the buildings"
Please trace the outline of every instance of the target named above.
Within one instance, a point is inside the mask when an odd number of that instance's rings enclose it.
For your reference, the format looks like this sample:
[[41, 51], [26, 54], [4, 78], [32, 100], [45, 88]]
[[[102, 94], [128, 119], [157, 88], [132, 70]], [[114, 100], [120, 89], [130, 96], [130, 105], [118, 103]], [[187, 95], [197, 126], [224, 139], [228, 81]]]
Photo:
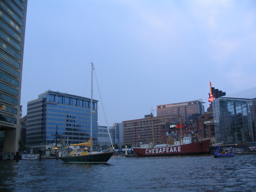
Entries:
[[22, 116], [47, 90], [90, 98], [91, 62], [99, 125], [197, 99], [206, 110], [209, 82], [256, 87], [255, 53], [255, 0], [28, 0]]

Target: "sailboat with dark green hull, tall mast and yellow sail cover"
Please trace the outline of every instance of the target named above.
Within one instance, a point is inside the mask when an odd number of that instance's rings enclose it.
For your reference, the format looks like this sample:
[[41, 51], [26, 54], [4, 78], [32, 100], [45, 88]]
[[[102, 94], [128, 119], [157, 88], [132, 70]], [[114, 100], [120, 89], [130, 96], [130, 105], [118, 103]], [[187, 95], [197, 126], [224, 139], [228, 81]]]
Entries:
[[[92, 76], [93, 76], [93, 63], [92, 64]], [[66, 145], [64, 152], [60, 159], [66, 163], [106, 163], [111, 158], [114, 150], [111, 148], [105, 152], [92, 151], [92, 114], [95, 112], [92, 110], [92, 77], [91, 77], [91, 117], [90, 117], [90, 134], [91, 138], [88, 142]], [[111, 137], [110, 137], [111, 140]], [[111, 140], [112, 141], [112, 140]], [[90, 150], [87, 148], [90, 147]]]

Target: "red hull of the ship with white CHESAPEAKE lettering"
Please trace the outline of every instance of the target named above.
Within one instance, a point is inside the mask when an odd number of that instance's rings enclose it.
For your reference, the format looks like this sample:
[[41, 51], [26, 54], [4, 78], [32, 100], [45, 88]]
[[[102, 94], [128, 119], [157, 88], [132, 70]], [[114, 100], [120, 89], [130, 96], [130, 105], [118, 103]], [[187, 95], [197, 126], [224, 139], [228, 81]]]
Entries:
[[133, 148], [138, 156], [184, 156], [209, 153], [210, 139], [179, 146], [162, 148]]

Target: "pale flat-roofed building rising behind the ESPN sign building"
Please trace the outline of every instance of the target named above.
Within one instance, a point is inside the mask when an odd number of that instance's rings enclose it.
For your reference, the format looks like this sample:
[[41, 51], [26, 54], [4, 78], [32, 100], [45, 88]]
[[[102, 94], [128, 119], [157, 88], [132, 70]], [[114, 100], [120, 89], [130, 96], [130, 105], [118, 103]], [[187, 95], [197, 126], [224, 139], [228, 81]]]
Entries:
[[164, 104], [156, 106], [157, 116], [178, 115], [181, 113], [185, 121], [192, 120], [192, 114], [204, 114], [203, 100]]

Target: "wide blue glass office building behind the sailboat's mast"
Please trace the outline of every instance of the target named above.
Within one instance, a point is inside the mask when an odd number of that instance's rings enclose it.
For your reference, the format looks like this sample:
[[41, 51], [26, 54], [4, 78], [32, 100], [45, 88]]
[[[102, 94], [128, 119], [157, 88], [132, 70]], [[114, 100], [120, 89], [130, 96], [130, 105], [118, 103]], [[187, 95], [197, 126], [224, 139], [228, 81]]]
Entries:
[[[38, 99], [28, 102], [26, 122], [26, 144], [33, 150], [45, 150], [55, 142], [58, 126], [60, 138], [69, 144], [87, 142], [90, 139], [91, 106], [92, 137], [97, 142], [98, 110], [97, 100], [48, 90]], [[59, 142], [59, 139], [58, 139]]]

